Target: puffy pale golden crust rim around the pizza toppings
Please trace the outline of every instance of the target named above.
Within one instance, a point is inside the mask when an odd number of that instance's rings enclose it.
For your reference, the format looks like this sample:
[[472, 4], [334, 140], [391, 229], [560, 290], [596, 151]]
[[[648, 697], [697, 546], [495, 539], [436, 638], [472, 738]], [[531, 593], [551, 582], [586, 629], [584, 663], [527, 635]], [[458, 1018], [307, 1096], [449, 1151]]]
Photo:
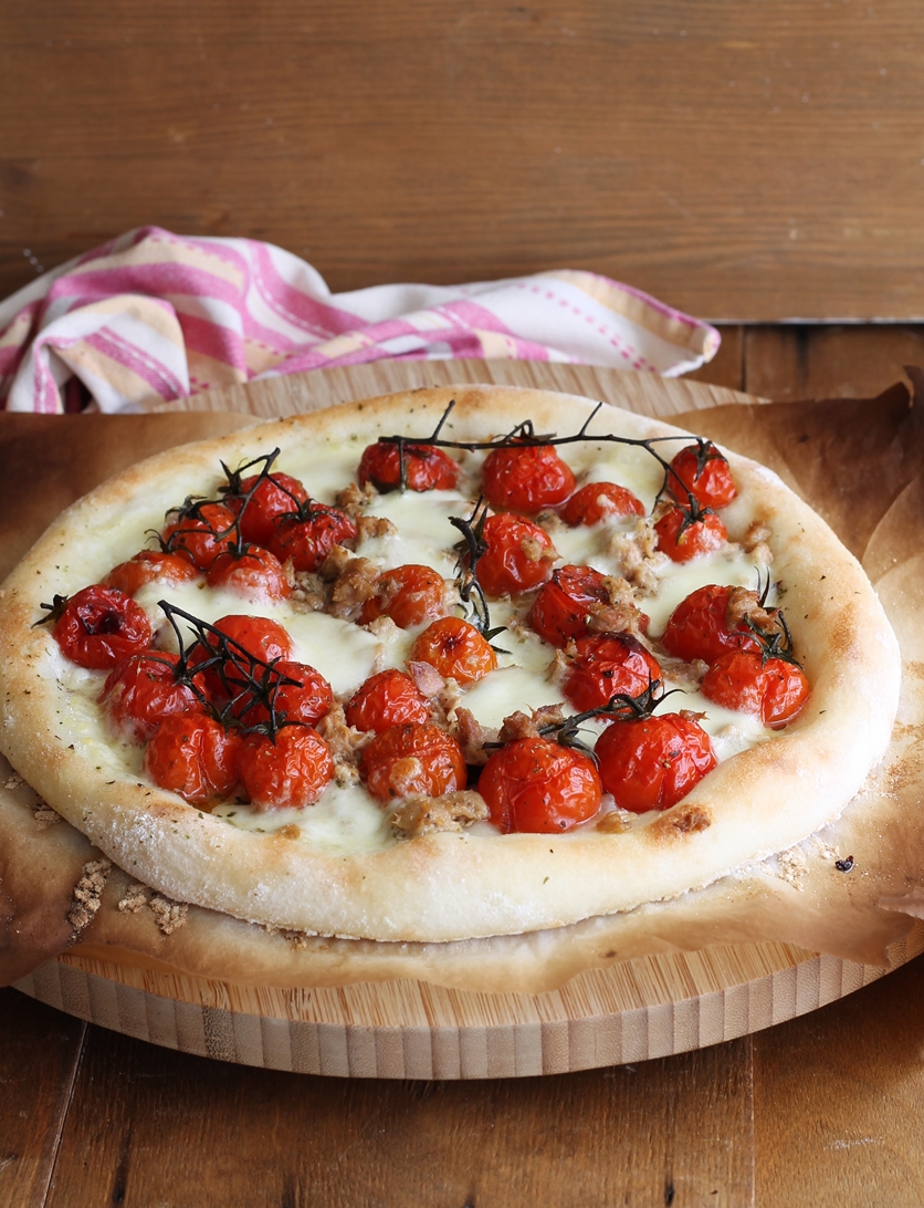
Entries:
[[[624, 834], [438, 834], [347, 855], [285, 834], [238, 830], [144, 779], [113, 773], [71, 743], [64, 660], [41, 603], [98, 581], [129, 557], [166, 507], [215, 488], [236, 465], [280, 446], [451, 429], [485, 439], [532, 419], [571, 434], [592, 403], [495, 387], [417, 390], [247, 429], [151, 458], [63, 513], [0, 588], [0, 749], [72, 825], [133, 876], [180, 901], [309, 934], [435, 942], [513, 935], [628, 911], [709, 884], [800, 842], [840, 813], [888, 745], [897, 704], [897, 645], [875, 592], [827, 525], [765, 467], [730, 455], [738, 499], [731, 538], [772, 532], [773, 576], [812, 684], [799, 721], [723, 762], [680, 803]], [[677, 432], [604, 407], [592, 431]], [[639, 454], [644, 455], [644, 454]], [[309, 483], [310, 489], [310, 483]], [[106, 539], [87, 540], [87, 534]], [[66, 741], [65, 741], [66, 739]]]

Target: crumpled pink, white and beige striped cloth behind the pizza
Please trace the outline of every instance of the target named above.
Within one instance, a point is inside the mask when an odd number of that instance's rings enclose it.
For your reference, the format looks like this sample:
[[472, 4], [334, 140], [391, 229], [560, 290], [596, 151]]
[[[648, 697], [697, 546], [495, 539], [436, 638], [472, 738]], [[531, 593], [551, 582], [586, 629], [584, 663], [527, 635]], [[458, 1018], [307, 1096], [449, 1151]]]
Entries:
[[273, 244], [140, 227], [0, 303], [0, 403], [54, 413], [92, 400], [94, 410], [135, 411], [381, 358], [577, 361], [673, 376], [718, 347], [708, 324], [595, 273], [331, 294], [310, 265]]

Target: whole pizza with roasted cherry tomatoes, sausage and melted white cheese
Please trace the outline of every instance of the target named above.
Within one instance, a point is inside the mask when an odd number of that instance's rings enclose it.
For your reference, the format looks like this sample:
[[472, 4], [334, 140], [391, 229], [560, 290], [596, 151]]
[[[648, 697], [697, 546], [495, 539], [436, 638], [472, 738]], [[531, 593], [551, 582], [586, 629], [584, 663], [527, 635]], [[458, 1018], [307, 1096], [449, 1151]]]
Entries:
[[139, 882], [439, 943], [677, 899], [836, 817], [896, 643], [768, 470], [417, 390], [158, 455], [2, 587], [0, 748]]

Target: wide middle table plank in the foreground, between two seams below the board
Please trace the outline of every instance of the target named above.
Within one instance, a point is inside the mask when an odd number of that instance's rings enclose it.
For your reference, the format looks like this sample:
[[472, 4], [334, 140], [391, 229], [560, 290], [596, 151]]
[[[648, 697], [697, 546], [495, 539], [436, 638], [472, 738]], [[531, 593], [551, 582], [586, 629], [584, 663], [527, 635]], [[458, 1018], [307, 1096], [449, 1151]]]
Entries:
[[540, 1082], [420, 1084], [252, 1070], [90, 1029], [48, 1206], [738, 1208], [750, 1137], [749, 1040]]

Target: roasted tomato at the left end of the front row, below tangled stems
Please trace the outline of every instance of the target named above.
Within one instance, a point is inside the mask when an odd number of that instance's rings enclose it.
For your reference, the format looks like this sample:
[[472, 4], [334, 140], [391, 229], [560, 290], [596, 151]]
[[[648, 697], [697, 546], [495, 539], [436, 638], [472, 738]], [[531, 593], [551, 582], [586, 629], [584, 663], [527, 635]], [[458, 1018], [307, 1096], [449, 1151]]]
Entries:
[[166, 718], [145, 748], [145, 771], [162, 789], [193, 806], [229, 797], [238, 784], [241, 741], [199, 713]]

